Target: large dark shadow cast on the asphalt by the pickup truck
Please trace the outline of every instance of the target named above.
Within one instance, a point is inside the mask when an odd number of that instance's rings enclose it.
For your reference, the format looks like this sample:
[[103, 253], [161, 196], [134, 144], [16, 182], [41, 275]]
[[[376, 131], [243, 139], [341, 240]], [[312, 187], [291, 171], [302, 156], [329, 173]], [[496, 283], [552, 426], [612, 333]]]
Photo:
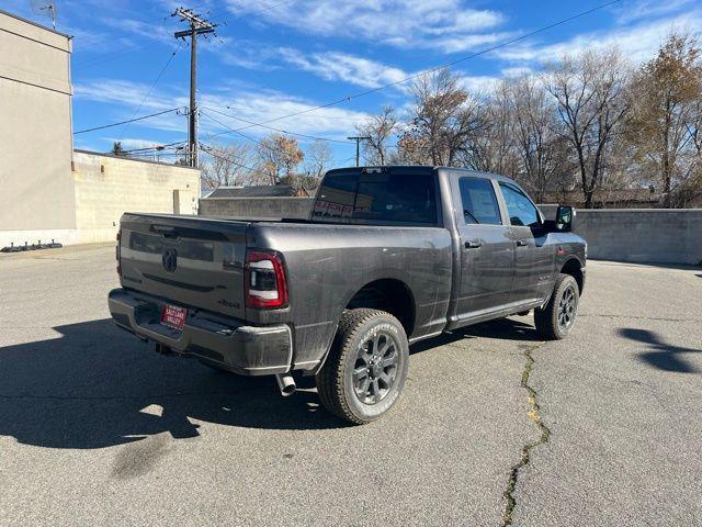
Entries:
[[[349, 426], [320, 406], [314, 378], [303, 378], [302, 390], [283, 399], [271, 377], [228, 374], [194, 359], [160, 356], [111, 319], [54, 329], [60, 337], [0, 348], [0, 436], [94, 449], [166, 431], [197, 437], [191, 419], [267, 429]], [[476, 336], [530, 340], [535, 333], [498, 321], [432, 338], [411, 351]]]

